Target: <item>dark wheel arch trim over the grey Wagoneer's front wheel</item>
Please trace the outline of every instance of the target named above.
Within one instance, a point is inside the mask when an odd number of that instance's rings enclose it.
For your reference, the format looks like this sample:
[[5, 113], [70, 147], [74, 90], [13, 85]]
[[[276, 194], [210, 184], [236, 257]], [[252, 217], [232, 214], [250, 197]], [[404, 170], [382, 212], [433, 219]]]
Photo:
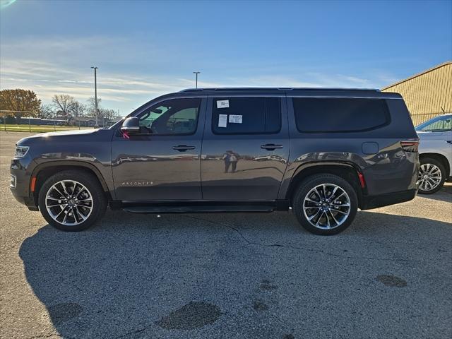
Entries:
[[102, 190], [105, 192], [107, 199], [109, 201], [112, 200], [112, 196], [107, 186], [107, 182], [105, 182], [105, 178], [102, 176], [102, 173], [100, 173], [99, 169], [97, 169], [94, 165], [83, 161], [50, 161], [37, 165], [37, 167], [35, 167], [35, 169], [33, 169], [32, 171], [31, 180], [33, 180], [33, 178], [36, 179], [35, 189], [30, 193], [32, 194], [32, 197], [36, 204], [38, 203], [38, 196], [42, 184], [44, 184], [44, 182], [53, 174], [69, 169], [81, 170], [93, 174], [100, 182]]

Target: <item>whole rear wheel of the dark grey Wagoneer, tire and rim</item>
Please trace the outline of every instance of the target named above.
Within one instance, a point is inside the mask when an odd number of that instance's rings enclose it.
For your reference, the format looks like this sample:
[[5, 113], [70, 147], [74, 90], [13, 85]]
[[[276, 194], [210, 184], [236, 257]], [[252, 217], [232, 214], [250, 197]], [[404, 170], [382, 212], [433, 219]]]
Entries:
[[345, 179], [333, 174], [316, 174], [302, 182], [295, 192], [292, 209], [306, 230], [332, 235], [345, 230], [355, 219], [357, 194]]

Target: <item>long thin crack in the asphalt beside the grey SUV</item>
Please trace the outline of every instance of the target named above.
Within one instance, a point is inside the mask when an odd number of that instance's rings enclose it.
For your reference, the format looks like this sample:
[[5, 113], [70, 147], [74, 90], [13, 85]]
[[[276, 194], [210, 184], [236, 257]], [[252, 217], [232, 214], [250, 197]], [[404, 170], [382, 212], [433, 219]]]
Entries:
[[261, 244], [260, 242], [252, 242], [251, 240], [249, 240], [248, 238], [246, 238], [244, 236], [244, 234], [239, 231], [236, 227], [229, 225], [225, 222], [217, 222], [217, 221], [212, 221], [212, 220], [208, 220], [208, 219], [203, 219], [203, 218], [198, 218], [198, 217], [192, 217], [189, 215], [184, 215], [185, 218], [190, 218], [190, 219], [194, 219], [194, 220], [200, 220], [200, 221], [205, 221], [205, 222], [210, 222], [211, 224], [215, 224], [215, 225], [221, 225], [223, 227], [227, 227], [230, 230], [233, 230], [234, 232], [236, 232], [237, 234], [239, 234], [239, 237], [241, 237], [244, 242], [246, 242], [247, 244], [250, 245], [256, 245], [256, 246], [261, 246], [261, 247], [283, 247], [285, 249], [295, 249], [297, 251], [309, 251], [309, 252], [314, 252], [314, 253], [320, 253], [320, 254], [324, 254], [326, 256], [334, 256], [334, 257], [338, 257], [338, 258], [346, 258], [346, 259], [359, 259], [359, 260], [374, 260], [374, 261], [400, 261], [400, 262], [414, 262], [413, 260], [410, 259], [394, 259], [394, 258], [375, 258], [372, 256], [345, 256], [342, 254], [335, 254], [335, 253], [331, 253], [331, 252], [327, 252], [327, 251], [323, 251], [322, 249], [309, 249], [307, 247], [301, 247], [301, 246], [293, 246], [290, 244]]

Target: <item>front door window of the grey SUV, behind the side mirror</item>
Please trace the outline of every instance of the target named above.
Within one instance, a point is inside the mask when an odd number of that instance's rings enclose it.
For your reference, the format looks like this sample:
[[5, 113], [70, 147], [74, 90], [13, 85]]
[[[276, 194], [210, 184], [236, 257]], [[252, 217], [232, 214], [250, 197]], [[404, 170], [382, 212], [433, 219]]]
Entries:
[[193, 134], [198, 124], [200, 98], [170, 99], [145, 109], [138, 118], [142, 133]]

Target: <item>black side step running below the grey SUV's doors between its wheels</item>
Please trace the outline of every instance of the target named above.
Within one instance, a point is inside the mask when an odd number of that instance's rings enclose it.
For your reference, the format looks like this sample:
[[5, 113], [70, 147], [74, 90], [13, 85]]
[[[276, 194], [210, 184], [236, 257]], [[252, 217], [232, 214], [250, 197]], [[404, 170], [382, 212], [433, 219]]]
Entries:
[[275, 206], [249, 205], [249, 206], [122, 206], [123, 210], [131, 213], [270, 213], [276, 210]]

